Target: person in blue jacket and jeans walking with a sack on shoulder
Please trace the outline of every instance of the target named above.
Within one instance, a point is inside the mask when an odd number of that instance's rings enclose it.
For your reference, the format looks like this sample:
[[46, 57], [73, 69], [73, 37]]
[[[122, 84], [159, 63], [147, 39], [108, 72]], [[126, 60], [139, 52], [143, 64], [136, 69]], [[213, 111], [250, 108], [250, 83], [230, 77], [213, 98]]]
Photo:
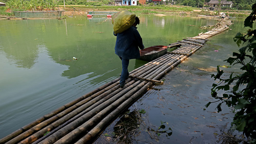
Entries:
[[122, 60], [122, 73], [120, 76], [120, 87], [123, 88], [125, 80], [129, 78], [128, 65], [130, 59], [140, 58], [140, 49], [144, 49], [142, 38], [137, 30], [137, 25], [140, 24], [140, 19], [135, 17], [134, 24], [127, 30], [115, 34], [115, 54]]

